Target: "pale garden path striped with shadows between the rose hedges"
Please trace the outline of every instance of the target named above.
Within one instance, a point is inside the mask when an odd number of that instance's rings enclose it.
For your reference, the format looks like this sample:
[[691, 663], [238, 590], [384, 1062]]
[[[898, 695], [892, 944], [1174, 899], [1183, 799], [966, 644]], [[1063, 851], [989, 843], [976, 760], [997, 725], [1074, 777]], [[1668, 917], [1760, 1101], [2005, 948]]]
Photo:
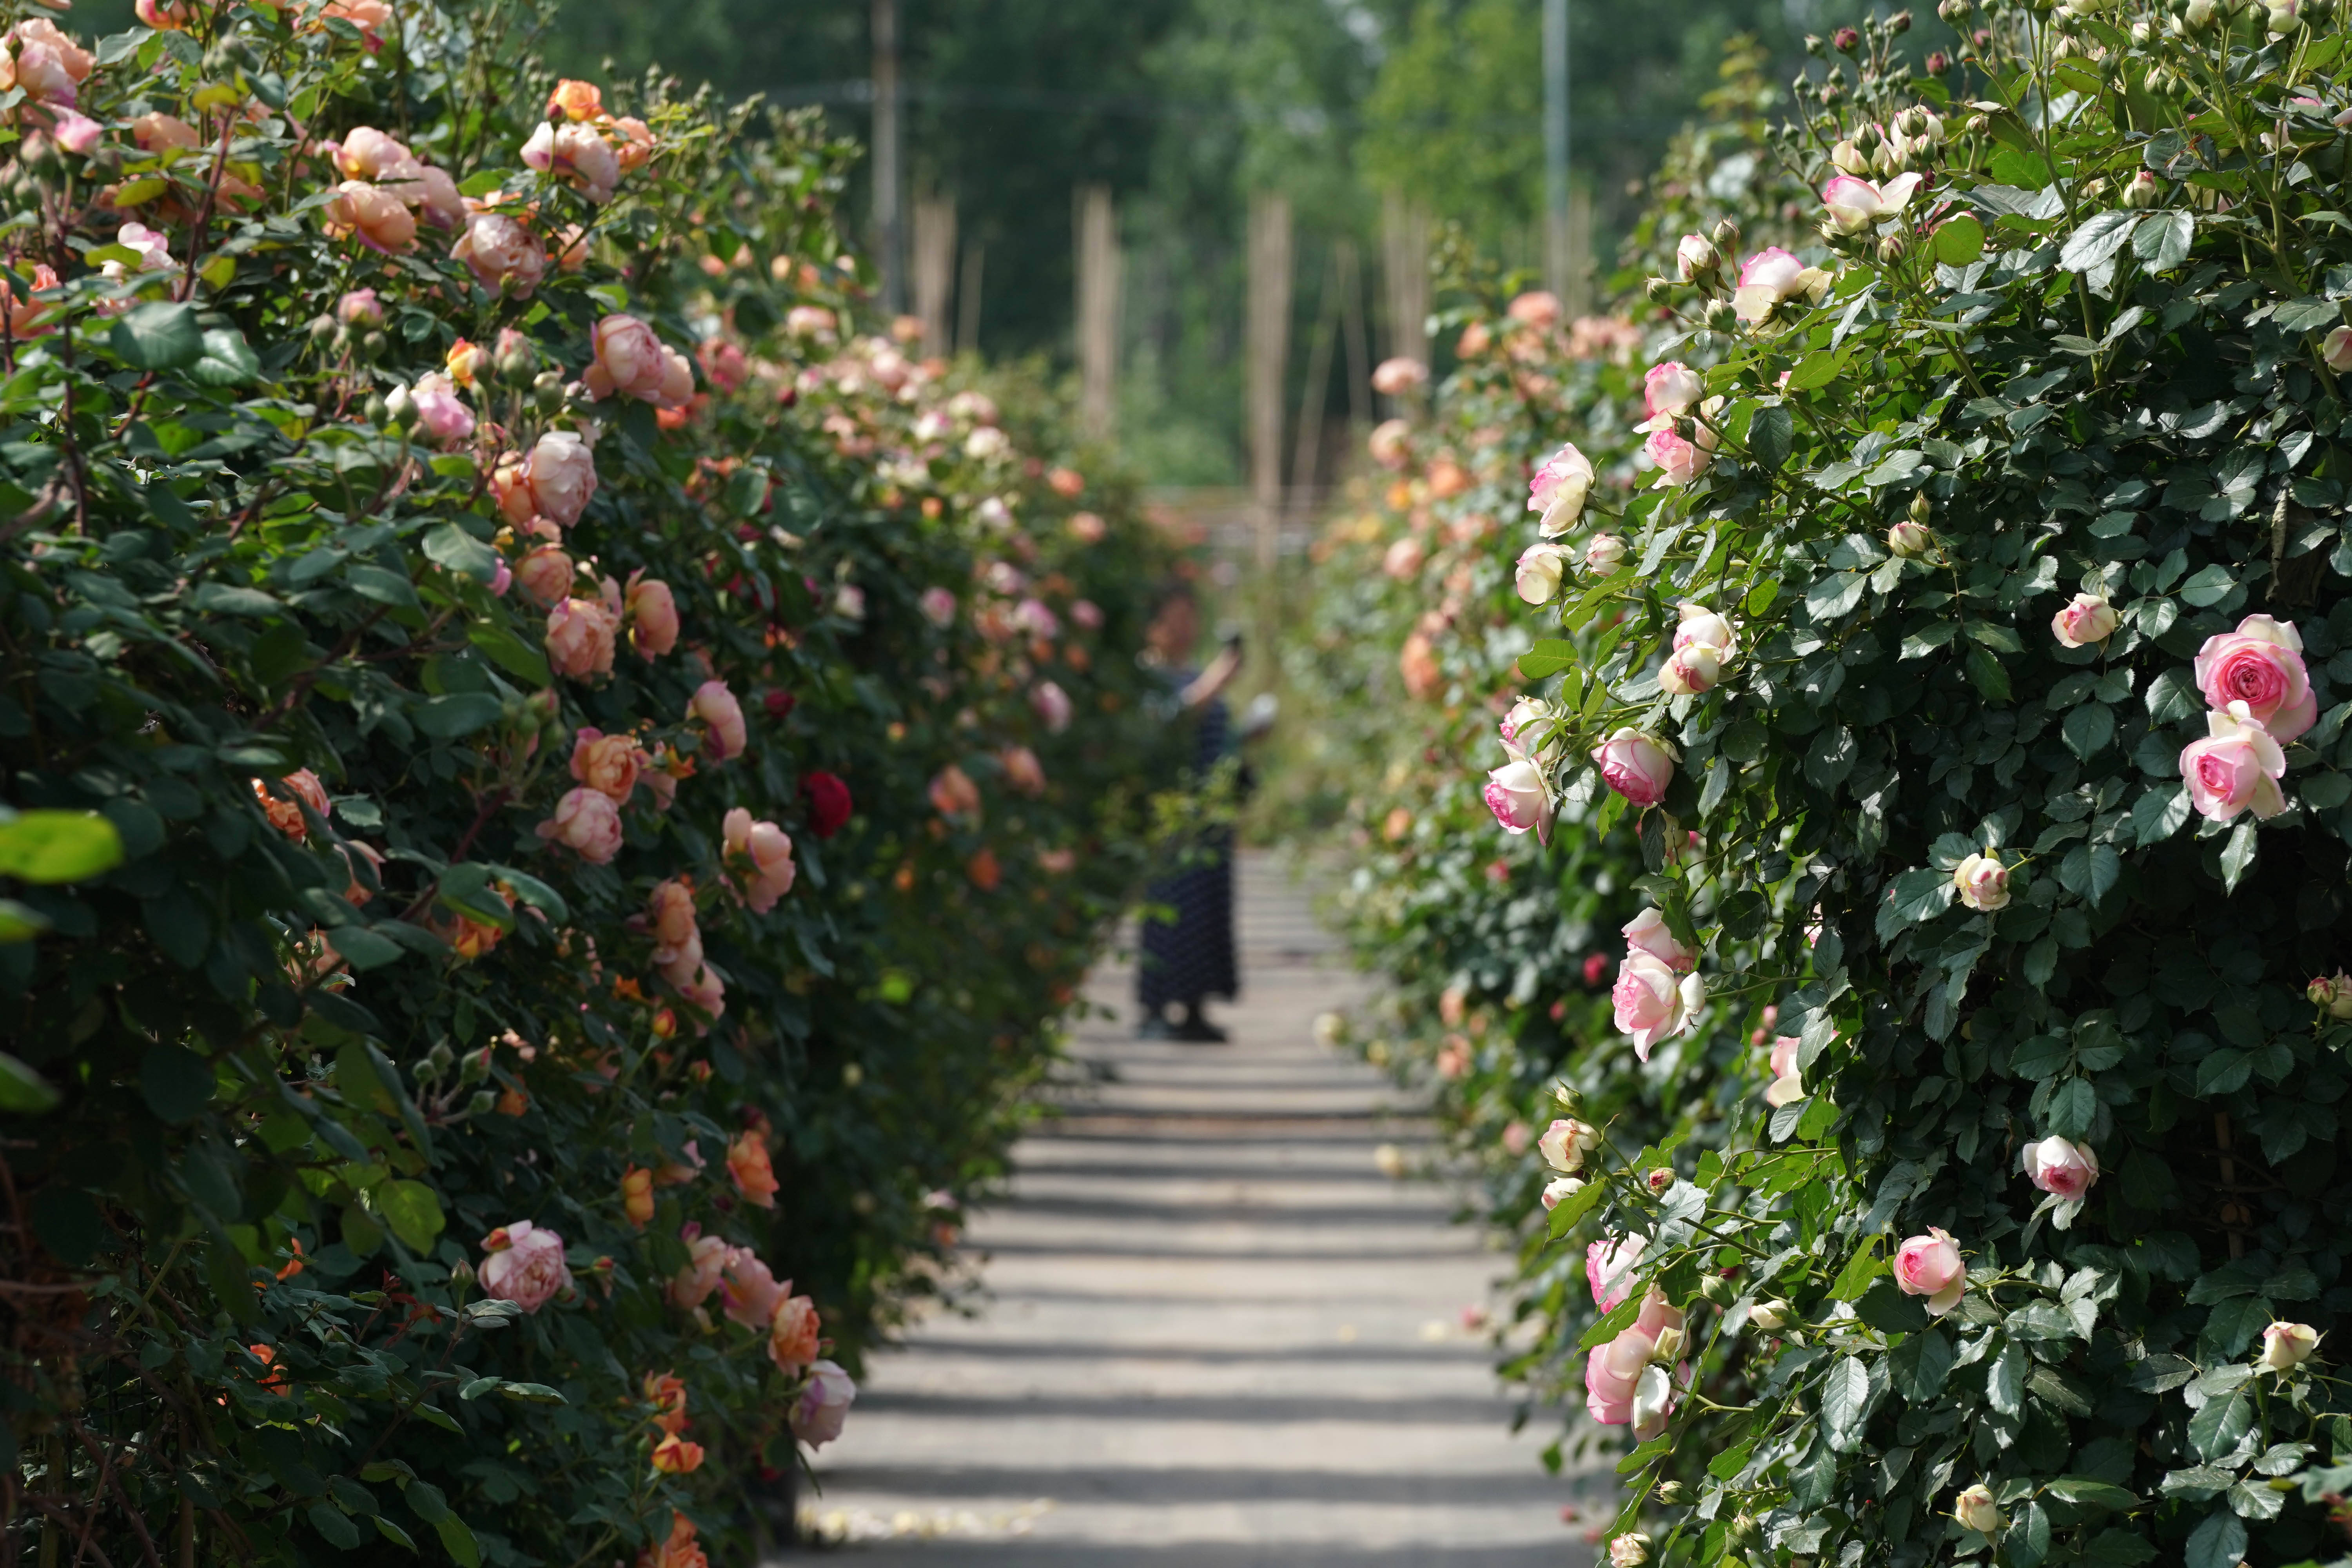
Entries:
[[1315, 1041], [1359, 999], [1272, 856], [1240, 877], [1230, 1046], [1134, 1039], [1134, 971], [1089, 997], [1084, 1077], [974, 1215], [978, 1316], [877, 1356], [804, 1519], [868, 1568], [1573, 1568], [1576, 1481], [1512, 1436], [1484, 1335], [1503, 1258], [1395, 1182], [1414, 1100]]

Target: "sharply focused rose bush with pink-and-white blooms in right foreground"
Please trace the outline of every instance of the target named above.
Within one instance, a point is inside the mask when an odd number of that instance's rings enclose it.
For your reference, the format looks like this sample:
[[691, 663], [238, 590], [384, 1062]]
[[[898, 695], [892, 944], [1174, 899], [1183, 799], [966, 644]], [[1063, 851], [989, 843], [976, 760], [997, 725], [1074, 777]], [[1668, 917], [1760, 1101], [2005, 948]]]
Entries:
[[1494, 811], [1635, 827], [1621, 1048], [1769, 1046], [1534, 1135], [1611, 1552], [2340, 1556], [2345, 38], [1945, 19], [1799, 82], [1818, 233], [1651, 284], [1639, 489], [1531, 475]]

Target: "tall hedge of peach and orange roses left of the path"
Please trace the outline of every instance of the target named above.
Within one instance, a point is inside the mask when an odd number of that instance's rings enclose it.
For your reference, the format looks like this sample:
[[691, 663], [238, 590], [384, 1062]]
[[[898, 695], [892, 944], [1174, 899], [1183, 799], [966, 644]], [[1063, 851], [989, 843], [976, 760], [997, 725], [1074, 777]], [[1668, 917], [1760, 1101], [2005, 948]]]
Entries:
[[1134, 882], [1167, 562], [854, 331], [811, 120], [139, 19], [0, 56], [0, 1556], [741, 1559]]

